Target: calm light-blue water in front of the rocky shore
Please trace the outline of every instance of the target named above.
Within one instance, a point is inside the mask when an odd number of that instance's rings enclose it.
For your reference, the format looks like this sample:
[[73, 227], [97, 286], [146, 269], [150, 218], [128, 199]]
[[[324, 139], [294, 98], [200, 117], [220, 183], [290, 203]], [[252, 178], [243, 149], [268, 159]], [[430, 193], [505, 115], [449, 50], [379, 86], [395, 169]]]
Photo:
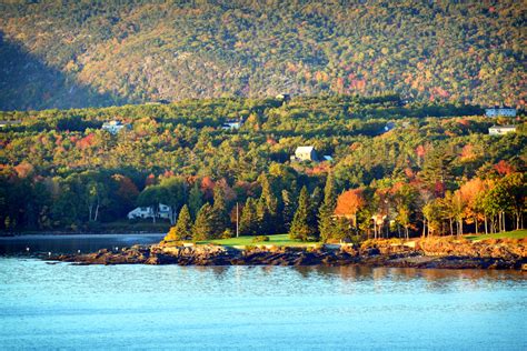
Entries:
[[0, 258], [0, 349], [526, 350], [527, 274]]

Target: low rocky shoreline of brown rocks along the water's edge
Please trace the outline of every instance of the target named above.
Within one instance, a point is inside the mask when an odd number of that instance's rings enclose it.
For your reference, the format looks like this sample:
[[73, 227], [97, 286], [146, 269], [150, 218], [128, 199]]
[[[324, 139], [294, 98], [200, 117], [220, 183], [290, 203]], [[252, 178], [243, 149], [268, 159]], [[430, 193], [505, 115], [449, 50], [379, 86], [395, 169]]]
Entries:
[[220, 245], [133, 245], [120, 251], [46, 258], [74, 264], [179, 264], [179, 265], [350, 265], [426, 269], [527, 269], [526, 244], [494, 240], [491, 243], [414, 241], [394, 244], [319, 248], [259, 247], [235, 249]]

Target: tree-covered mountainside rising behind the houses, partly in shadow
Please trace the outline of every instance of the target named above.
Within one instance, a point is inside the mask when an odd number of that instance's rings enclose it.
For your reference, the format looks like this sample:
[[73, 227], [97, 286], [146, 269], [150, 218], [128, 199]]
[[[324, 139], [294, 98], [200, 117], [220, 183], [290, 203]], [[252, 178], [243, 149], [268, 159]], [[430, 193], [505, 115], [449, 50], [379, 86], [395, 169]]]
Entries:
[[525, 107], [525, 1], [0, 3], [0, 109], [376, 94]]

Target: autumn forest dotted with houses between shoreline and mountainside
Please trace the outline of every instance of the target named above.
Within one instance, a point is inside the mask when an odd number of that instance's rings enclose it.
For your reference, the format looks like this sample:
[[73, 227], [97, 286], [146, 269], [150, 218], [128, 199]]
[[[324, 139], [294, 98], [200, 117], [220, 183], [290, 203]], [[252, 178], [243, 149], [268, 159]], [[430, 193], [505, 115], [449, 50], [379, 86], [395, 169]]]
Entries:
[[[0, 112], [0, 229], [98, 230], [171, 208], [175, 239], [301, 240], [523, 225], [526, 124], [397, 94]], [[102, 129], [120, 121], [121, 131]], [[241, 121], [239, 129], [225, 128]], [[493, 124], [516, 132], [489, 136]], [[312, 146], [322, 161], [291, 160]], [[322, 156], [331, 159], [324, 160]]]

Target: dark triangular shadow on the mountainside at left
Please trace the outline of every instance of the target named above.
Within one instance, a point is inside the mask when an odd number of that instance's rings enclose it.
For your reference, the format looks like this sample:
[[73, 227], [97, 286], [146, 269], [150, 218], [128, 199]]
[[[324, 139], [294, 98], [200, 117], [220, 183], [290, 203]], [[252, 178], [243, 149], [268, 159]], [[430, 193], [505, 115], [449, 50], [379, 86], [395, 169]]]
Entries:
[[42, 110], [119, 106], [128, 101], [80, 84], [51, 68], [0, 31], [0, 110]]

